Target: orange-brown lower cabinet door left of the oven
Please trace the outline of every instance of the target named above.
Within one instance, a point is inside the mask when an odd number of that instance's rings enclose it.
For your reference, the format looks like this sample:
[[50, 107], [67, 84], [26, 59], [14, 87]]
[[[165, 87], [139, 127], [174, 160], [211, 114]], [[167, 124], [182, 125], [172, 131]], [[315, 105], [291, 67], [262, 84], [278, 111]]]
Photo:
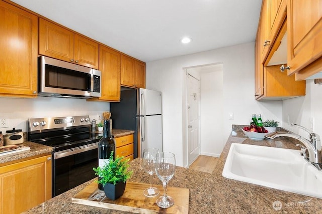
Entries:
[[51, 155], [0, 167], [0, 213], [21, 213], [51, 198]]

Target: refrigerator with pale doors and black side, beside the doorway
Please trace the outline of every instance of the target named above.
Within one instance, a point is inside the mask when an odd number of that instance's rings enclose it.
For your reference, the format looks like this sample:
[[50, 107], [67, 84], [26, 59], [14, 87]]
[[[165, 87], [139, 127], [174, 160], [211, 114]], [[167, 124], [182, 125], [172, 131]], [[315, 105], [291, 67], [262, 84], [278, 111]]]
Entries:
[[162, 93], [148, 89], [121, 88], [119, 103], [111, 103], [113, 129], [134, 130], [134, 158], [146, 148], [163, 151]]

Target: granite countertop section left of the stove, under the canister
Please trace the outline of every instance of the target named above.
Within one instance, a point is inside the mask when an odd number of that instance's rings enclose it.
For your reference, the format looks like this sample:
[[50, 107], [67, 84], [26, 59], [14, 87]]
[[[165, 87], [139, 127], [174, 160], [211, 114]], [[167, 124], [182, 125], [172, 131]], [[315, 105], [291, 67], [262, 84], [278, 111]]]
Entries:
[[6, 155], [3, 157], [0, 157], [0, 164], [4, 164], [7, 162], [15, 161], [15, 160], [20, 160], [23, 158], [27, 157], [32, 157], [44, 153], [51, 153], [53, 151], [53, 147], [26, 141], [22, 144], [19, 145], [24, 145], [24, 146], [29, 146], [30, 150], [24, 153], [19, 153], [19, 154], [11, 154], [11, 155]]

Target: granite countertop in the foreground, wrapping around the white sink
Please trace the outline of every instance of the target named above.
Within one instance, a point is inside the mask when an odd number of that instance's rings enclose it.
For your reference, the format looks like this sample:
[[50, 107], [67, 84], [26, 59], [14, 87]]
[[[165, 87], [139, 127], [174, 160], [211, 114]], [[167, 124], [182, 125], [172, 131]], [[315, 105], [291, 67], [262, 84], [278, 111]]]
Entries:
[[[255, 184], [224, 178], [221, 173], [231, 143], [244, 143], [279, 148], [298, 149], [287, 138], [279, 140], [251, 140], [244, 136], [240, 127], [233, 127], [231, 135], [218, 159], [213, 173], [177, 167], [169, 186], [189, 188], [189, 213], [318, 213], [322, 199], [263, 187]], [[140, 158], [129, 162], [134, 175], [133, 182], [149, 183], [149, 175], [140, 167]], [[93, 179], [94, 180], [94, 179]], [[25, 213], [124, 213], [122, 211], [71, 203], [71, 197], [93, 180], [64, 192]], [[161, 184], [156, 176], [153, 183]], [[162, 191], [162, 190], [161, 190]], [[280, 201], [277, 211], [273, 203]]]

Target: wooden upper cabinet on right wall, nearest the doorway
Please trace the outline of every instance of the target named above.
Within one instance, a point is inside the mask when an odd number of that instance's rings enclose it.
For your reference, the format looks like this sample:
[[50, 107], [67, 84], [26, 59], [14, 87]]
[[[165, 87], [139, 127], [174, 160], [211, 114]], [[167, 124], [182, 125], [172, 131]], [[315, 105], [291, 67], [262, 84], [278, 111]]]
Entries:
[[[255, 99], [284, 100], [305, 95], [305, 81], [295, 81], [271, 59], [285, 38], [285, 0], [264, 0], [255, 44]], [[268, 36], [269, 35], [269, 36]], [[268, 41], [265, 37], [268, 36]], [[284, 45], [284, 44], [283, 44]], [[285, 45], [286, 47], [286, 45]]]

